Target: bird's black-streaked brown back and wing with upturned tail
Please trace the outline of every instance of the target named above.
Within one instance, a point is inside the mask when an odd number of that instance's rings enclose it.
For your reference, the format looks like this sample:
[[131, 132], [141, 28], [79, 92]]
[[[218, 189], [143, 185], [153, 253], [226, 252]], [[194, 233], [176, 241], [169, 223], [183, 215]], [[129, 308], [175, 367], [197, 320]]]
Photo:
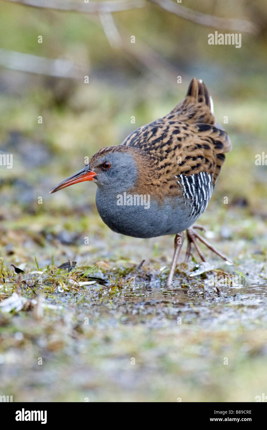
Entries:
[[159, 178], [168, 182], [176, 175], [207, 172], [215, 184], [231, 143], [215, 125], [210, 106], [206, 86], [193, 79], [186, 98], [170, 114], [135, 130], [122, 144], [149, 154]]

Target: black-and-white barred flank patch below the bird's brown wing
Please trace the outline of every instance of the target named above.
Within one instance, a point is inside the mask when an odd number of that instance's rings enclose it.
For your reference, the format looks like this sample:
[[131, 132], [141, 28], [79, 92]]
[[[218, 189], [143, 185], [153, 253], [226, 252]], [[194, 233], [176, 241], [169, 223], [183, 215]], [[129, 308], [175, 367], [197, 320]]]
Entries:
[[212, 197], [212, 175], [200, 172], [190, 176], [179, 175], [175, 178], [178, 178], [177, 183], [183, 188], [184, 204], [190, 205], [190, 218], [199, 217], [206, 210]]

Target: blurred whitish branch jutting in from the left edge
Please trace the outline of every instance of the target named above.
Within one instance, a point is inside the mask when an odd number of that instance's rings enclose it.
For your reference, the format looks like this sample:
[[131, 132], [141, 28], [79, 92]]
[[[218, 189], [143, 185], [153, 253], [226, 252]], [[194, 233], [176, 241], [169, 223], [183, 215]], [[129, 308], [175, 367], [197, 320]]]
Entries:
[[45, 58], [0, 48], [0, 65], [9, 69], [55, 77], [79, 79], [86, 72], [83, 65], [61, 58]]

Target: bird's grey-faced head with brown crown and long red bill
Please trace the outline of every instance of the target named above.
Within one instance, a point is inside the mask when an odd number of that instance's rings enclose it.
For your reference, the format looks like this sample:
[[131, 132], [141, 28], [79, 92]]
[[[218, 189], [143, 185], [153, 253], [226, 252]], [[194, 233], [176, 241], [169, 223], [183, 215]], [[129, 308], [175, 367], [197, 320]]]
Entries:
[[140, 155], [132, 147], [119, 145], [102, 148], [80, 172], [61, 181], [49, 194], [83, 181], [95, 182], [107, 192], [129, 190], [138, 177], [139, 159]]

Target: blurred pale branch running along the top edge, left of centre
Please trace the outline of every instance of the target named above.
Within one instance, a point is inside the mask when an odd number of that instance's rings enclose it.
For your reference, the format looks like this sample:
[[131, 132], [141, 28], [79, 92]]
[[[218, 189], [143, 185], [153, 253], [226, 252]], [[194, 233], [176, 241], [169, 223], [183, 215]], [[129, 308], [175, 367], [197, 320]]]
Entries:
[[68, 12], [84, 13], [110, 13], [128, 9], [136, 9], [145, 5], [144, 0], [110, 0], [110, 1], [84, 1], [71, 0], [5, 0], [12, 3], [20, 3], [25, 6], [41, 7], [45, 9], [67, 10]]

